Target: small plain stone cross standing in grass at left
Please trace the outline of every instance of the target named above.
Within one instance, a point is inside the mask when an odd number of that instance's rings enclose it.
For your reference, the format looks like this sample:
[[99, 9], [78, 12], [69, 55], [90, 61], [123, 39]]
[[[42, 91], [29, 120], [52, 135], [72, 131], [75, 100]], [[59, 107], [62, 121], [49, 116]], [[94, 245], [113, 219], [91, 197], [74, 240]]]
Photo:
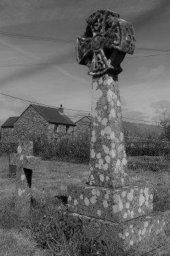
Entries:
[[10, 165], [16, 166], [15, 212], [19, 218], [24, 218], [29, 216], [32, 173], [40, 159], [31, 156], [32, 141], [19, 141], [17, 151], [17, 154], [10, 154]]

